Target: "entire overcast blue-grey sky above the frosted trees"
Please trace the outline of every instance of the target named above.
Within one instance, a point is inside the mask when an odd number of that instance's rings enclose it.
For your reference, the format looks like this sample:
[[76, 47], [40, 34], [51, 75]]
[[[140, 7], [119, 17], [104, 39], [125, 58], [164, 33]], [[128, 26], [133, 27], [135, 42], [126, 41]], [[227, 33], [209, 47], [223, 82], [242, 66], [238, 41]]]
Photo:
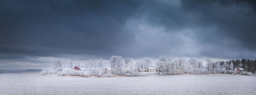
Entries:
[[256, 5], [242, 0], [1, 0], [0, 69], [85, 66], [112, 55], [256, 58]]

